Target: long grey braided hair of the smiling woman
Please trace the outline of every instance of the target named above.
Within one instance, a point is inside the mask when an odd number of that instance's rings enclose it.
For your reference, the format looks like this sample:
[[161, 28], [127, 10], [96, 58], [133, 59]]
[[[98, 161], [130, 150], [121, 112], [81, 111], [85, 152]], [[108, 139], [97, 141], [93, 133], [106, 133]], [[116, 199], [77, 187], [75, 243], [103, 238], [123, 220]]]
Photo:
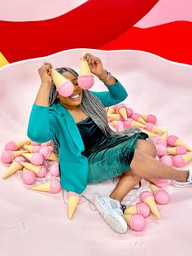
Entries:
[[[78, 77], [78, 73], [72, 68], [56, 68], [59, 73], [63, 72], [70, 72], [76, 77]], [[50, 105], [54, 104], [56, 99], [56, 87], [55, 84], [52, 83], [51, 90], [50, 90]], [[89, 90], [82, 90], [82, 100], [81, 104], [78, 105], [79, 108], [83, 112], [87, 114], [87, 116], [91, 117], [95, 124], [103, 131], [104, 135], [107, 137], [116, 136], [116, 135], [127, 135], [128, 137], [133, 136], [134, 134], [140, 132], [141, 130], [138, 128], [129, 128], [124, 130], [112, 130], [108, 125], [107, 121], [107, 113], [105, 110], [105, 106], [103, 105], [102, 101], [98, 99], [95, 95], [93, 95]], [[56, 148], [58, 152], [58, 148]]]

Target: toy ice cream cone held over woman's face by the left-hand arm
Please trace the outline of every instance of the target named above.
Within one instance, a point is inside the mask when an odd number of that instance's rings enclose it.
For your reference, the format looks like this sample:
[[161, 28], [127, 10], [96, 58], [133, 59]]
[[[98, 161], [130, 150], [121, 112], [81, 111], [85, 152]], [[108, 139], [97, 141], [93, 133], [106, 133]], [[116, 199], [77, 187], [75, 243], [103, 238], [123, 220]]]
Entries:
[[63, 77], [54, 68], [51, 68], [51, 77], [53, 79], [53, 82], [55, 83], [55, 86], [57, 88], [56, 90], [58, 91], [59, 95], [62, 95], [63, 97], [69, 97], [72, 95], [74, 91], [74, 86], [72, 82]]

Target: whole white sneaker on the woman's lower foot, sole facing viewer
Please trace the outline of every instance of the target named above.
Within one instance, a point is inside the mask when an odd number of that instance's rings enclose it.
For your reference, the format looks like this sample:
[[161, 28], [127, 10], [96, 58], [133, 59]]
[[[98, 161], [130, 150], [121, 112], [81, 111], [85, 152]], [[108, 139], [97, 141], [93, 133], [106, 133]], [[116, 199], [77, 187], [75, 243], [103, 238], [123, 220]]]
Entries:
[[94, 205], [112, 230], [121, 234], [127, 231], [127, 223], [119, 201], [109, 196], [97, 196]]

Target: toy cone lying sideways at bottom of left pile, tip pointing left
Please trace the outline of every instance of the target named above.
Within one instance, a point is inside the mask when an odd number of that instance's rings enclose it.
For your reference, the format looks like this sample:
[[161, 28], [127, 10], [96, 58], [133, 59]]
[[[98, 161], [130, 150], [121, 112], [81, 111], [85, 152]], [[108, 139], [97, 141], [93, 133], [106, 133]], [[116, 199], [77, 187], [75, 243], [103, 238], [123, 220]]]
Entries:
[[36, 187], [33, 187], [32, 189], [36, 191], [50, 192], [52, 194], [56, 194], [61, 190], [61, 186], [58, 180], [53, 179], [47, 183], [42, 183]]

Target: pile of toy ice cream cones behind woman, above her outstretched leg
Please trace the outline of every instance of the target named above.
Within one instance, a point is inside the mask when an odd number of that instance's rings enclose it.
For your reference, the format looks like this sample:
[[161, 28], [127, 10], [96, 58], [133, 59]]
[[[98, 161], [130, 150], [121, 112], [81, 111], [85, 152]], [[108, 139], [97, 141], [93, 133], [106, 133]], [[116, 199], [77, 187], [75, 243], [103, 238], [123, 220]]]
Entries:
[[192, 149], [175, 135], [156, 125], [154, 114], [134, 113], [125, 104], [116, 104], [106, 108], [109, 126], [113, 130], [124, 130], [132, 127], [145, 132], [156, 144], [157, 157], [167, 166], [184, 167], [192, 161]]

